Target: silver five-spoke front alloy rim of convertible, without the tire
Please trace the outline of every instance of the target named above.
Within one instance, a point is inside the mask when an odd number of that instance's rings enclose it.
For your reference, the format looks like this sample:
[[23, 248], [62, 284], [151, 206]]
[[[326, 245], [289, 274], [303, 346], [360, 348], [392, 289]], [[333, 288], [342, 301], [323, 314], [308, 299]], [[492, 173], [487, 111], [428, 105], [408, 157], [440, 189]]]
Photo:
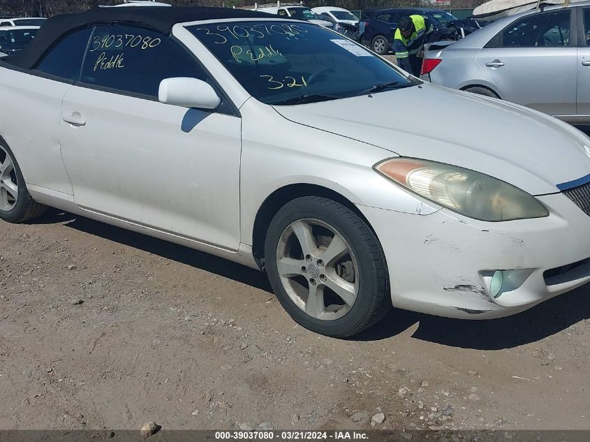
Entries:
[[323, 221], [290, 224], [276, 249], [276, 267], [290, 299], [313, 318], [342, 318], [357, 300], [356, 257], [344, 237]]

